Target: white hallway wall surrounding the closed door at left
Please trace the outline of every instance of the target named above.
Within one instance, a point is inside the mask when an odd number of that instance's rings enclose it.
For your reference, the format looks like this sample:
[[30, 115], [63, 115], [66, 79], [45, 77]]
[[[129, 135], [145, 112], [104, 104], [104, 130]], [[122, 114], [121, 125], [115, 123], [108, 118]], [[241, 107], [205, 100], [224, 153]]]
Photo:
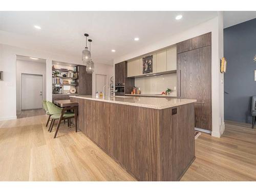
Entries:
[[22, 110], [22, 73], [42, 75], [42, 98], [46, 99], [46, 62], [16, 60], [16, 105]]

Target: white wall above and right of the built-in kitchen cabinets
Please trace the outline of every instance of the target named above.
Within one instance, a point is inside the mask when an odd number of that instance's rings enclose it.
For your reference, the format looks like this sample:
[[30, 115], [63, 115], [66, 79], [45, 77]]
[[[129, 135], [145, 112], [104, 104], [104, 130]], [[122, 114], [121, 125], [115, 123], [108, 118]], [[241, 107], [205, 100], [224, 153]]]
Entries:
[[[222, 31], [222, 32], [221, 32]], [[193, 38], [204, 33], [211, 32], [211, 97], [212, 97], [212, 136], [220, 137], [224, 130], [224, 104], [223, 104], [223, 74], [220, 73], [220, 59], [223, 57], [223, 14], [219, 12], [218, 16], [199, 24], [186, 31], [172, 35], [166, 39], [160, 40], [156, 44], [145, 47], [121, 57], [114, 58], [114, 63], [129, 60], [149, 52], [154, 52], [177, 42]], [[221, 128], [222, 127], [222, 128]]]

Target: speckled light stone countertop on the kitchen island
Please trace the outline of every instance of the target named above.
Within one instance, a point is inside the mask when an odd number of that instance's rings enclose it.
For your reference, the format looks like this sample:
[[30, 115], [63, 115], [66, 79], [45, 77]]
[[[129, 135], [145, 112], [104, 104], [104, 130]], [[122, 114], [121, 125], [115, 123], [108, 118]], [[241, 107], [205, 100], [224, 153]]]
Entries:
[[196, 102], [196, 99], [177, 99], [177, 98], [156, 98], [156, 97], [130, 97], [130, 96], [116, 96], [106, 98], [96, 98], [92, 95], [70, 96], [74, 98], [89, 99], [102, 102], [126, 104], [132, 106], [140, 106], [142, 108], [151, 108], [162, 110], [166, 108], [173, 108], [174, 106]]

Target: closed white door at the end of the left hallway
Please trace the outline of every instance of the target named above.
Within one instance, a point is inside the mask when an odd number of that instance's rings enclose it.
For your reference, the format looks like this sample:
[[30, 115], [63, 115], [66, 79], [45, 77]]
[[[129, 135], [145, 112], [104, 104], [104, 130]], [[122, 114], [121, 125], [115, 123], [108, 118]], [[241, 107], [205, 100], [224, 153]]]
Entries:
[[42, 75], [22, 74], [22, 110], [42, 108]]

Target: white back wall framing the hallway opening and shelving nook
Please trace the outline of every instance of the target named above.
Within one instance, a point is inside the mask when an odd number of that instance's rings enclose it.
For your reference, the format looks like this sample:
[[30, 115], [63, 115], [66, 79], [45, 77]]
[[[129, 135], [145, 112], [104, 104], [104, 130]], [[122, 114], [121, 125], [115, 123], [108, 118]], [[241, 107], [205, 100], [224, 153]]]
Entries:
[[[1, 40], [0, 38], [0, 71], [4, 71], [4, 81], [0, 81], [0, 120], [16, 118], [16, 55], [46, 59], [46, 99], [49, 101], [52, 100], [52, 61], [82, 65], [81, 56], [58, 55], [14, 47], [1, 44]], [[113, 75], [113, 67], [95, 63], [93, 93], [95, 92], [95, 73], [108, 74], [110, 78]]]

